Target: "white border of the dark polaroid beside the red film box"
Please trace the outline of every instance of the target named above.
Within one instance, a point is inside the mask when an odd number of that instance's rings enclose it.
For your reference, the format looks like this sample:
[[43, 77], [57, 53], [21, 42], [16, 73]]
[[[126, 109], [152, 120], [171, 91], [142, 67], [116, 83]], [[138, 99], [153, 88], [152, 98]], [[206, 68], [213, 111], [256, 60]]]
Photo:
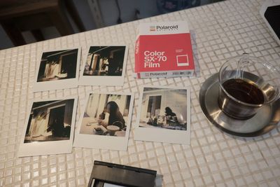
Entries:
[[[87, 54], [90, 51], [91, 47], [110, 47], [110, 46], [124, 46], [125, 47], [125, 55], [123, 58], [123, 72], [122, 76], [84, 76], [83, 72], [85, 70], [85, 63], [87, 63]], [[125, 83], [125, 73], [127, 70], [127, 57], [128, 57], [128, 48], [127, 44], [120, 45], [94, 45], [87, 48], [87, 54], [83, 57], [83, 67], [80, 72], [79, 85], [108, 85], [108, 86], [122, 86]]]

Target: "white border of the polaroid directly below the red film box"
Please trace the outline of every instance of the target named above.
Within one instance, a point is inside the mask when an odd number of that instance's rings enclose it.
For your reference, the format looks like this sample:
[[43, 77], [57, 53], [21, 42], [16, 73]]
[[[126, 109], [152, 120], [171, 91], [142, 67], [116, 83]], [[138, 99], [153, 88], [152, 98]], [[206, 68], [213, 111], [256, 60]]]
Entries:
[[[160, 128], [140, 127], [141, 102], [143, 99], [144, 88], [167, 88], [174, 90], [186, 90], [187, 92], [187, 130], [167, 130]], [[144, 85], [141, 88], [139, 97], [139, 106], [137, 113], [137, 126], [134, 128], [134, 140], [137, 141], [155, 141], [172, 144], [190, 144], [190, 88], [189, 87], [171, 87]]]

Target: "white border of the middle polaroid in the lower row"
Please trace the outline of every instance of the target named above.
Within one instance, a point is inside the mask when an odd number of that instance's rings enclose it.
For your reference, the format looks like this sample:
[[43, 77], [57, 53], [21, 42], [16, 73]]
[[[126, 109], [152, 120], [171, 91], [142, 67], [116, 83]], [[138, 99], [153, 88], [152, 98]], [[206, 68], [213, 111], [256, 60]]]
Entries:
[[[80, 134], [80, 127], [83, 122], [83, 115], [87, 107], [90, 94], [99, 95], [130, 95], [130, 108], [127, 119], [127, 129], [125, 132], [125, 137], [111, 137], [111, 136], [100, 136], [94, 134]], [[83, 104], [83, 110], [80, 113], [80, 120], [75, 133], [75, 139], [73, 142], [74, 147], [85, 147], [85, 148], [100, 148], [105, 150], [116, 150], [116, 151], [127, 151], [128, 140], [130, 137], [130, 128], [132, 123], [132, 113], [134, 104], [134, 93], [132, 92], [88, 92]], [[92, 142], [98, 142], [94, 144]]]

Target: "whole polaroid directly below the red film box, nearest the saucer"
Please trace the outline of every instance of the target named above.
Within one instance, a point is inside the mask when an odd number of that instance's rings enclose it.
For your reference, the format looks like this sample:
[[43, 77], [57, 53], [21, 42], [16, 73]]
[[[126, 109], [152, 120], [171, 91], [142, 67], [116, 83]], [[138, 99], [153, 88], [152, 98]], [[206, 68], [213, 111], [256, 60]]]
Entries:
[[190, 144], [190, 88], [144, 87], [134, 139]]

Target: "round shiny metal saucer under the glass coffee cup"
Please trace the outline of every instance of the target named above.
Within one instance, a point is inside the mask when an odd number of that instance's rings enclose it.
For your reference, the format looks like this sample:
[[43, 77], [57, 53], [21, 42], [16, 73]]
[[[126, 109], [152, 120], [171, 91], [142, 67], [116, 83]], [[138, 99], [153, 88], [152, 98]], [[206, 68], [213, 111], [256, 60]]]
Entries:
[[248, 120], [236, 120], [226, 116], [218, 107], [218, 74], [209, 77], [200, 89], [200, 106], [204, 115], [218, 129], [237, 137], [257, 137], [272, 130], [280, 121], [280, 99], [262, 106]]

